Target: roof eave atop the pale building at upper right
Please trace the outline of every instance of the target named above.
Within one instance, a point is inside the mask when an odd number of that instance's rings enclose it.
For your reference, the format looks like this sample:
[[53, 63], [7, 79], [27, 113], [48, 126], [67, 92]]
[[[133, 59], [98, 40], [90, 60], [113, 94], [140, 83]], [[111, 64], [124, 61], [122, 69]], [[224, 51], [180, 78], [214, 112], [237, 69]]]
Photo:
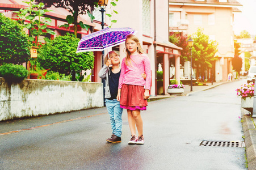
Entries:
[[[206, 0], [206, 1], [195, 1], [195, 0], [169, 0], [169, 3], [193, 3], [194, 5], [226, 5], [226, 6], [242, 6], [241, 3], [236, 0], [228, 0], [228, 2], [219, 2], [219, 0]], [[185, 5], [185, 4], [184, 4]]]

